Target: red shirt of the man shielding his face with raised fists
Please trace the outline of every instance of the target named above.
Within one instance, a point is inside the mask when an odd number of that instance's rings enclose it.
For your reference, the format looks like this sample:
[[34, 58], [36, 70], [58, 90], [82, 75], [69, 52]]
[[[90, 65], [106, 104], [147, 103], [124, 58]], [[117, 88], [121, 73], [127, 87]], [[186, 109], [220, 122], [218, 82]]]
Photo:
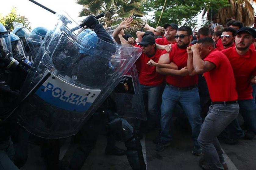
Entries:
[[227, 57], [214, 49], [204, 58], [204, 61], [212, 62], [216, 66], [204, 73], [211, 100], [213, 102], [237, 100], [236, 80]]

